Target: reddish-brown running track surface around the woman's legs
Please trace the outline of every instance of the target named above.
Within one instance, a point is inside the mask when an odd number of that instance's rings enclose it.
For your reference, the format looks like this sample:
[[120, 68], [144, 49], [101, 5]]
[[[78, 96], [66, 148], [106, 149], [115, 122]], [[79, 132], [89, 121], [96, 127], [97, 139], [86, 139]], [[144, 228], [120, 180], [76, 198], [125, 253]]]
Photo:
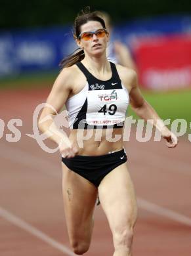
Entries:
[[[62, 203], [60, 155], [48, 154], [26, 136], [32, 115], [49, 90], [1, 91], [0, 255], [73, 255]], [[7, 122], [23, 120], [19, 142], [7, 142]], [[133, 255], [191, 255], [191, 158], [188, 137], [169, 149], [164, 142], [125, 144], [138, 200]], [[51, 144], [53, 146], [53, 144]], [[116, 184], [119, 186], [119, 184]], [[120, 214], [120, 213], [119, 213]], [[95, 207], [91, 248], [84, 255], [110, 256], [112, 236], [102, 208]]]

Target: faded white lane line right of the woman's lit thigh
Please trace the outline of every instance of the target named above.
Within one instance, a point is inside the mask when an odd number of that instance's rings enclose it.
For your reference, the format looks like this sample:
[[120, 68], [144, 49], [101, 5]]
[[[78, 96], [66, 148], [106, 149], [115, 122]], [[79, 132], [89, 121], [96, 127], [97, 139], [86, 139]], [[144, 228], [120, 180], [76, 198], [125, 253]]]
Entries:
[[169, 210], [165, 207], [161, 207], [155, 203], [148, 202], [147, 200], [144, 200], [142, 198], [137, 198], [138, 206], [146, 211], [150, 211], [152, 213], [156, 213], [157, 215], [161, 215], [163, 217], [166, 217], [167, 219], [171, 219], [173, 221], [176, 221], [178, 223], [185, 224], [187, 226], [191, 226], [191, 219], [189, 217], [186, 217], [180, 213], [177, 213], [176, 211]]

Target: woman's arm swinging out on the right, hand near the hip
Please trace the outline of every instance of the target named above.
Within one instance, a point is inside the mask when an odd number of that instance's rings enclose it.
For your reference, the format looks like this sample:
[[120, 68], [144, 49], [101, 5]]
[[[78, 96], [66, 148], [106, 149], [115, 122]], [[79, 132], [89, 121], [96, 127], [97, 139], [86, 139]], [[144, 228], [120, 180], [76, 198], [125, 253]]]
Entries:
[[151, 119], [154, 126], [161, 133], [161, 137], [166, 140], [166, 145], [169, 148], [175, 148], [178, 144], [176, 135], [165, 126], [165, 123], [160, 119], [154, 108], [143, 98], [138, 88], [136, 72], [131, 70], [128, 76], [131, 81], [131, 89], [129, 91], [131, 108], [140, 118], [148, 122]]

